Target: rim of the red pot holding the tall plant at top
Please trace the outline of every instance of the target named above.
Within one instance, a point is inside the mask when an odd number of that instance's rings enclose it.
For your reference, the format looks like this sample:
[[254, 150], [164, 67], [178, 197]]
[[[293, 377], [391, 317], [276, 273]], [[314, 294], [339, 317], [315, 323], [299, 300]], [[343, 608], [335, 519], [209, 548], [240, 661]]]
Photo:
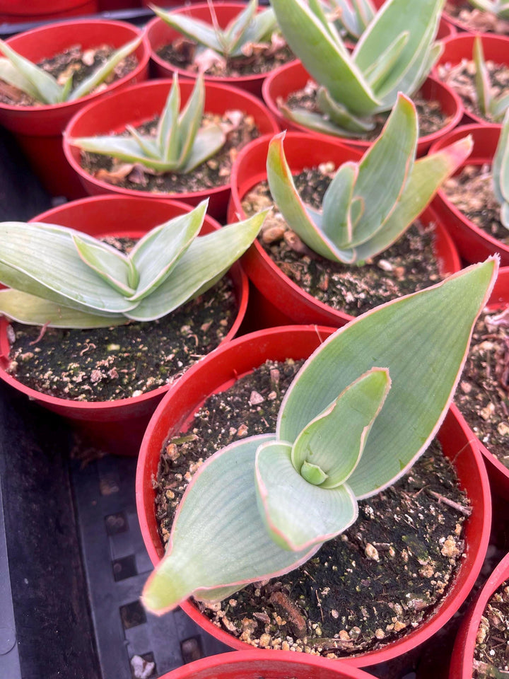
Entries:
[[[288, 71], [291, 71], [291, 69], [293, 69], [296, 72], [288, 74]], [[308, 74], [308, 71], [305, 70], [305, 67], [299, 61], [279, 66], [279, 69], [271, 71], [271, 73], [264, 80], [262, 86], [262, 95], [264, 102], [267, 104], [267, 108], [269, 108], [271, 113], [276, 116], [277, 120], [280, 121], [281, 127], [283, 127], [283, 122], [286, 120], [286, 118], [283, 116], [281, 111], [279, 111], [277, 103], [274, 101], [274, 98], [272, 97], [271, 88], [274, 82], [277, 83], [281, 79], [288, 78], [292, 82], [297, 80], [297, 82], [300, 83], [299, 76], [303, 73], [303, 71], [305, 74], [308, 75], [308, 79], [312, 80], [312, 77]], [[422, 137], [419, 137], [417, 147], [419, 154], [423, 153], [426, 149], [428, 149], [428, 146], [430, 146], [430, 144], [433, 144], [433, 142], [443, 137], [445, 134], [447, 134], [447, 132], [450, 132], [450, 130], [457, 127], [457, 125], [460, 124], [460, 120], [462, 119], [464, 113], [464, 108], [460, 97], [458, 97], [458, 95], [454, 91], [452, 91], [449, 87], [447, 87], [443, 82], [430, 75], [426, 79], [425, 83], [423, 83], [423, 86], [425, 86], [426, 83], [431, 83], [434, 88], [438, 88], [438, 91], [441, 91], [443, 95], [448, 96], [450, 98], [450, 100], [455, 105], [455, 113], [452, 114], [450, 121], [447, 122], [447, 124], [445, 124], [442, 128], [438, 129], [436, 132], [432, 132], [431, 134], [424, 134]], [[298, 130], [298, 132], [305, 132], [305, 134], [308, 135], [312, 134], [313, 137], [320, 137], [320, 139], [329, 139], [329, 141], [337, 139], [337, 141], [341, 141], [343, 144], [347, 144], [348, 146], [354, 146], [359, 149], [368, 149], [368, 147], [371, 146], [371, 144], [373, 144], [372, 141], [366, 141], [365, 139], [334, 137], [332, 134], [322, 134], [321, 132], [310, 132], [310, 130], [308, 130], [306, 127], [296, 122], [290, 120], [286, 120], [286, 122], [288, 123], [288, 125], [291, 126], [291, 128]]]

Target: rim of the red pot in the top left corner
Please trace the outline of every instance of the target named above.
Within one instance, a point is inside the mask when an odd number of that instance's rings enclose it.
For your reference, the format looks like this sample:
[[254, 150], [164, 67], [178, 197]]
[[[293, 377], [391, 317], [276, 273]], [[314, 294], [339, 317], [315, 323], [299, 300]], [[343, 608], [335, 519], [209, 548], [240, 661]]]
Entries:
[[[111, 19], [69, 19], [67, 21], [59, 21], [57, 23], [52, 23], [48, 24], [45, 26], [40, 26], [39, 28], [32, 28], [31, 30], [27, 30], [24, 33], [18, 33], [18, 35], [14, 35], [13, 37], [8, 38], [6, 40], [7, 44], [11, 44], [11, 42], [16, 42], [16, 39], [18, 37], [23, 37], [25, 35], [30, 35], [33, 36], [33, 39], [36, 40], [37, 36], [40, 35], [41, 33], [47, 33], [47, 31], [54, 30], [55, 28], [59, 29], [60, 27], [71, 27], [74, 25], [79, 25], [79, 24], [91, 24], [91, 25], [96, 25], [98, 27], [100, 26], [117, 26], [119, 28], [128, 28], [129, 30], [132, 31], [133, 34], [133, 39], [136, 35], [141, 35], [142, 40], [137, 48], [137, 50], [142, 47], [142, 54], [141, 57], [138, 57], [138, 64], [136, 64], [136, 67], [132, 70], [129, 71], [128, 74], [125, 76], [122, 76], [122, 78], [119, 78], [113, 83], [110, 83], [110, 85], [107, 86], [107, 88], [101, 92], [98, 93], [91, 93], [87, 94], [84, 97], [81, 97], [80, 99], [77, 99], [75, 101], [64, 101], [59, 104], [44, 104], [40, 106], [15, 106], [11, 104], [4, 104], [0, 103], [0, 110], [7, 110], [7, 111], [13, 111], [13, 112], [33, 112], [33, 111], [38, 111], [38, 112], [47, 112], [47, 111], [55, 111], [55, 110], [65, 110], [66, 108], [71, 108], [71, 107], [76, 107], [76, 104], [78, 105], [86, 105], [90, 101], [93, 101], [98, 98], [98, 95], [104, 95], [105, 93], [109, 93], [112, 91], [115, 91], [117, 88], [122, 87], [125, 83], [128, 83], [131, 79], [135, 78], [136, 76], [139, 76], [144, 69], [147, 68], [148, 62], [150, 60], [150, 45], [148, 43], [148, 40], [146, 39], [146, 35], [141, 31], [141, 29], [137, 28], [136, 26], [124, 22], [124, 21], [113, 21]], [[0, 48], [1, 51], [1, 48]]]

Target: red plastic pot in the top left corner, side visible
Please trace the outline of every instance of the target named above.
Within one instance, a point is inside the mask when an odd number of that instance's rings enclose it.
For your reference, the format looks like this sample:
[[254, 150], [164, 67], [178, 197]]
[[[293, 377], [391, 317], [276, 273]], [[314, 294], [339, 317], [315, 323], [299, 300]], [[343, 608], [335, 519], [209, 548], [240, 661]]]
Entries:
[[[20, 33], [8, 45], [33, 62], [52, 57], [71, 45], [84, 49], [107, 44], [120, 47], [140, 35], [139, 28], [121, 21], [102, 19], [64, 21]], [[138, 65], [105, 90], [76, 101], [43, 106], [12, 106], [0, 103], [0, 123], [16, 134], [38, 177], [52, 195], [68, 198], [85, 195], [62, 151], [62, 132], [71, 117], [84, 105], [99, 100], [126, 85], [146, 80], [150, 50], [144, 38], [136, 49]]]

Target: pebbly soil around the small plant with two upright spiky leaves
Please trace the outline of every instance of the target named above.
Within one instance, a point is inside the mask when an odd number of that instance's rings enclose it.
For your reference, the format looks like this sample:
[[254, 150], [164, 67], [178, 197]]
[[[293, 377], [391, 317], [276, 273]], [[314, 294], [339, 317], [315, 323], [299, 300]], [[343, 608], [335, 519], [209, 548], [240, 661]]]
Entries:
[[[155, 134], [159, 118], [137, 126], [142, 134]], [[234, 110], [224, 116], [205, 113], [202, 124], [219, 124], [226, 132], [226, 144], [197, 168], [187, 174], [158, 172], [139, 163], [125, 163], [112, 156], [81, 152], [81, 166], [93, 177], [134, 191], [148, 193], [188, 193], [220, 187], [230, 182], [233, 161], [242, 146], [259, 137], [250, 115]]]

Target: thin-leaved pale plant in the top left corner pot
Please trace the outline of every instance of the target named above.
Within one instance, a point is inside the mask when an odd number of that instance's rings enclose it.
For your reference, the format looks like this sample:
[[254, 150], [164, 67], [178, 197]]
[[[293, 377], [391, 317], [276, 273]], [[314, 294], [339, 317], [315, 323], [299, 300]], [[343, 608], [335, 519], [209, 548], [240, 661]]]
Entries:
[[72, 75], [69, 76], [64, 85], [59, 85], [51, 74], [30, 62], [29, 59], [22, 57], [7, 42], [0, 40], [0, 49], [6, 57], [0, 59], [0, 79], [45, 104], [75, 101], [100, 85], [122, 59], [136, 50], [142, 39], [143, 37], [140, 35], [119, 47], [105, 64], [98, 66], [93, 74], [84, 79], [76, 88], [73, 88]]

